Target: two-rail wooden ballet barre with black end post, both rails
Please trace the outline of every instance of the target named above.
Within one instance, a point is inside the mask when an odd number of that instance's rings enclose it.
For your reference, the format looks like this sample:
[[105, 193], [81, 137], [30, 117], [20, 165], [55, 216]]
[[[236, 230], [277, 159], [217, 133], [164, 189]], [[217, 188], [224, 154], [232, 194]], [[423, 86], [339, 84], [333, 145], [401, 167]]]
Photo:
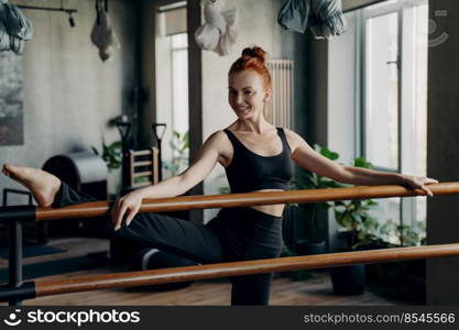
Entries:
[[[428, 185], [428, 187], [434, 195], [459, 194], [459, 183], [440, 183]], [[411, 189], [403, 186], [391, 185], [310, 190], [261, 191], [230, 195], [184, 196], [143, 200], [139, 212], [164, 212], [206, 208], [231, 208], [293, 202], [306, 204], [424, 195], [425, 193], [420, 189]], [[97, 201], [58, 209], [40, 208], [34, 206], [0, 208], [0, 222], [7, 223], [10, 229], [9, 283], [0, 286], [0, 301], [8, 301], [9, 305], [21, 305], [24, 299], [77, 292], [157, 285], [258, 273], [291, 272], [352, 264], [385, 263], [459, 255], [459, 243], [455, 243], [215, 263], [142, 272], [121, 272], [114, 274], [87, 275], [57, 280], [43, 278], [23, 282], [23, 222], [102, 216], [109, 217], [110, 207], [111, 202], [109, 201]]]

